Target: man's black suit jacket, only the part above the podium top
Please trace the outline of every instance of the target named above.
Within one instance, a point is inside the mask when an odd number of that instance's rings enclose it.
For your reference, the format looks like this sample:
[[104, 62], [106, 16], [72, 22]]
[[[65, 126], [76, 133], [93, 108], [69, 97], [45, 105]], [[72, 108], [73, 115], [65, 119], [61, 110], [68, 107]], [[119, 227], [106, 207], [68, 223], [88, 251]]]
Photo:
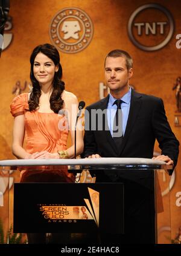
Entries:
[[109, 95], [86, 107], [83, 157], [98, 153], [101, 157], [152, 158], [157, 139], [162, 154], [168, 155], [176, 166], [179, 141], [167, 121], [162, 99], [132, 90], [129, 118], [119, 149], [109, 130], [91, 130], [91, 110], [106, 110], [108, 101]]

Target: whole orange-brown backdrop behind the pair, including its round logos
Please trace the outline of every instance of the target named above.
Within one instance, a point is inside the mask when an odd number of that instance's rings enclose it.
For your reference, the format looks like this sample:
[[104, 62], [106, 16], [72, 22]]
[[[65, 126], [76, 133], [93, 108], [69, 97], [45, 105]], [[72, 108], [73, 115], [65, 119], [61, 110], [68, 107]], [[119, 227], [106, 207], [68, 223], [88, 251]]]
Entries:
[[[66, 90], [84, 100], [86, 106], [107, 95], [104, 86], [104, 58], [113, 49], [124, 49], [133, 57], [130, 83], [141, 93], [164, 100], [168, 121], [181, 138], [181, 111], [177, 106], [181, 76], [179, 0], [11, 0], [0, 59], [0, 158], [12, 159], [14, 96], [30, 90], [30, 54], [38, 44], [57, 46]], [[175, 84], [175, 85], [174, 85]], [[173, 89], [175, 87], [175, 89]], [[70, 143], [70, 142], [69, 142]], [[155, 146], [156, 154], [160, 153]], [[180, 157], [171, 179], [172, 238], [181, 225]], [[19, 173], [14, 173], [19, 180]], [[164, 183], [164, 175], [163, 175]], [[167, 187], [165, 187], [165, 191]], [[167, 191], [164, 197], [168, 197]], [[0, 207], [0, 217], [4, 214]], [[5, 220], [4, 220], [5, 223]], [[160, 220], [160, 232], [168, 230]], [[165, 237], [167, 243], [167, 237]]]

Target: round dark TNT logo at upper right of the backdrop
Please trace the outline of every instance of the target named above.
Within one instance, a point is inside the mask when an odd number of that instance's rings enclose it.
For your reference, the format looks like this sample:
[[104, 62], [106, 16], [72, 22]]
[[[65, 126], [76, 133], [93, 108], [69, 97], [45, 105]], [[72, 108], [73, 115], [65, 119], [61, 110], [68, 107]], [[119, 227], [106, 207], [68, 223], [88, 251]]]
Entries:
[[173, 36], [174, 21], [168, 10], [159, 4], [145, 4], [137, 8], [129, 19], [129, 38], [139, 49], [159, 50]]

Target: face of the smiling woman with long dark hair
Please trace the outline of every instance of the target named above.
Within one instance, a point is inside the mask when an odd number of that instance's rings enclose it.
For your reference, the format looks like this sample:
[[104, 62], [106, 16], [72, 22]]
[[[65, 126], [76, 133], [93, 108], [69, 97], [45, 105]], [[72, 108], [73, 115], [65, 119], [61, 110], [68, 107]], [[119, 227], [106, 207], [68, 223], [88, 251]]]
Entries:
[[34, 59], [33, 73], [40, 85], [52, 84], [54, 74], [59, 70], [58, 66], [55, 66], [52, 59], [39, 52]]

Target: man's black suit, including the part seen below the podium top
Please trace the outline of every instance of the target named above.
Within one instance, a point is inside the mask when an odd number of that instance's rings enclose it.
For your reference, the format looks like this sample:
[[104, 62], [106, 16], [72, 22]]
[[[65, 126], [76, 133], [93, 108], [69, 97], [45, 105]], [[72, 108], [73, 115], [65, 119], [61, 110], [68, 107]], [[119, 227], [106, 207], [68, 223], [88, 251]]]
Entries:
[[[109, 96], [86, 108], [84, 157], [98, 153], [101, 157], [139, 157], [152, 158], [155, 140], [163, 155], [168, 155], [177, 163], [179, 141], [174, 136], [165, 115], [162, 99], [137, 93], [132, 90], [130, 112], [121, 147], [113, 141], [107, 125], [107, 104]], [[98, 129], [101, 120], [92, 118], [91, 110], [104, 110], [105, 127]], [[91, 130], [97, 119], [97, 126]], [[97, 182], [118, 182], [124, 184], [124, 224], [126, 243], [155, 243], [154, 240], [154, 178], [151, 170], [127, 172], [127, 170], [90, 171], [96, 175]], [[146, 229], [145, 229], [146, 227]], [[134, 233], [135, 232], [135, 233]]]

